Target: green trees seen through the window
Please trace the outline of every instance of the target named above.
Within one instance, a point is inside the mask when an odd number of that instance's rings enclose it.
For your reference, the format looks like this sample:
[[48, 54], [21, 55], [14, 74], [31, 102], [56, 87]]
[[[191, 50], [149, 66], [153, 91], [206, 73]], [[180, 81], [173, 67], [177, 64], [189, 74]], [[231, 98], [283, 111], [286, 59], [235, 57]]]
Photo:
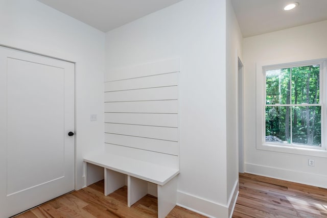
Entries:
[[321, 147], [320, 66], [265, 71], [266, 142]]

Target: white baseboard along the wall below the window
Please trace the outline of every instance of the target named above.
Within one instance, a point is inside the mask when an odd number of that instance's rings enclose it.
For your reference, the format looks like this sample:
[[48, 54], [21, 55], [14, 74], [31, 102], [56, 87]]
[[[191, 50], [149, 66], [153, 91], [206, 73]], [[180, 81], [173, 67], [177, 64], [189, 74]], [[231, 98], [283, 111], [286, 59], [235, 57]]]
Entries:
[[251, 163], [245, 163], [245, 172], [275, 179], [282, 179], [290, 182], [327, 188], [327, 176], [325, 175], [291, 171], [289, 169], [275, 168]]

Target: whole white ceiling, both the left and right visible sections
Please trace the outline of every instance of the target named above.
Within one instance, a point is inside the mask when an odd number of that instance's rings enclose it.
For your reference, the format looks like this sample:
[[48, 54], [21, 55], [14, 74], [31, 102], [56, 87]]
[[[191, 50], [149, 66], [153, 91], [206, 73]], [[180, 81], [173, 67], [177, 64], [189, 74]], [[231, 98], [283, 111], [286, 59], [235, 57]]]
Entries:
[[[182, 0], [38, 0], [103, 32]], [[218, 1], [218, 0], [216, 0]], [[327, 0], [231, 0], [243, 37], [327, 19]], [[284, 11], [287, 3], [299, 6]], [[199, 0], [199, 4], [201, 1]]]

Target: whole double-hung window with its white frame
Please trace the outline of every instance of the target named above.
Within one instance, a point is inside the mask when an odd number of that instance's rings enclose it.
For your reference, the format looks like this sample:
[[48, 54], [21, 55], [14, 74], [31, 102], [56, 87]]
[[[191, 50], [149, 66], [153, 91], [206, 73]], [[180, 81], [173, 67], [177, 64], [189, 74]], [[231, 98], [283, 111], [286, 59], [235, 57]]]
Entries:
[[324, 67], [317, 60], [259, 68], [259, 147], [325, 150]]

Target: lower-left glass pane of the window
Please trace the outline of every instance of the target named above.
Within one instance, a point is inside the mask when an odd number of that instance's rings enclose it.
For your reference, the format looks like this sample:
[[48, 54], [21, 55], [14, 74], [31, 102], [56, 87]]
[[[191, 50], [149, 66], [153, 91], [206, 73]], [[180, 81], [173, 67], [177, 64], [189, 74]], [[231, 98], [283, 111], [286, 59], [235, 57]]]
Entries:
[[290, 107], [266, 107], [266, 142], [291, 143]]

